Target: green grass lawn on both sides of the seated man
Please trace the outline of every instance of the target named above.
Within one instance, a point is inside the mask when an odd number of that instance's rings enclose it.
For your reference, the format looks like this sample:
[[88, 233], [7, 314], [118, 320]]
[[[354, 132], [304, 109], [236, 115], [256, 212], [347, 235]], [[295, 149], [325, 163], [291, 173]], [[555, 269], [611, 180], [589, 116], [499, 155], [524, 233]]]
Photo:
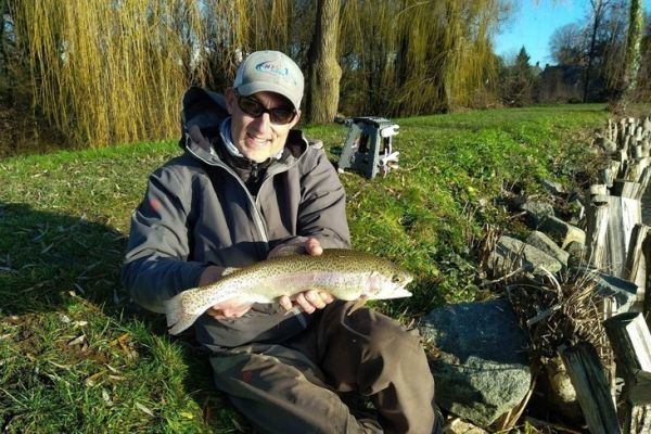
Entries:
[[[505, 196], [571, 182], [600, 105], [395, 119], [400, 169], [342, 175], [354, 247], [412, 271], [414, 296], [376, 307], [409, 321], [477, 285], [483, 226], [516, 230]], [[306, 128], [329, 152], [347, 129]], [[7, 433], [246, 431], [206, 358], [119, 284], [129, 217], [175, 141], [0, 159], [0, 427]], [[330, 153], [333, 161], [336, 156]], [[242, 427], [243, 426], [243, 427]]]

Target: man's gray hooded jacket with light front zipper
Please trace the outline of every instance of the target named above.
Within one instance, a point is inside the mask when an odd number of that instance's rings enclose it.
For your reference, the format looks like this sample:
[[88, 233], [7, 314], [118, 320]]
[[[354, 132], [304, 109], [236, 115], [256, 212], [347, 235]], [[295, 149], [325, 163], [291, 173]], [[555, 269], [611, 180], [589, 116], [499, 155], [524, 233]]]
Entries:
[[[345, 193], [320, 146], [291, 131], [283, 157], [265, 171], [254, 196], [218, 153], [218, 131], [228, 116], [224, 97], [200, 88], [183, 95], [182, 155], [149, 179], [131, 218], [122, 280], [143, 307], [163, 312], [163, 302], [196, 286], [208, 265], [243, 267], [283, 244], [319, 239], [324, 248], [349, 247]], [[303, 330], [309, 316], [255, 305], [244, 317], [195, 322], [200, 343], [213, 348], [279, 342]]]

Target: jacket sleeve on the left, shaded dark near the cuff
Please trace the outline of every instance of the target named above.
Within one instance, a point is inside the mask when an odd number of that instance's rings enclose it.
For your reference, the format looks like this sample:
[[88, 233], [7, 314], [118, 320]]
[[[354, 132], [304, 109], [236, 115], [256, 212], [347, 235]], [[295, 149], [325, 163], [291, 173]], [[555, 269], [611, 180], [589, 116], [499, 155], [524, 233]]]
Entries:
[[205, 268], [187, 260], [191, 203], [187, 183], [169, 167], [156, 170], [131, 217], [122, 282], [138, 304], [155, 312], [165, 311], [164, 301], [195, 286]]

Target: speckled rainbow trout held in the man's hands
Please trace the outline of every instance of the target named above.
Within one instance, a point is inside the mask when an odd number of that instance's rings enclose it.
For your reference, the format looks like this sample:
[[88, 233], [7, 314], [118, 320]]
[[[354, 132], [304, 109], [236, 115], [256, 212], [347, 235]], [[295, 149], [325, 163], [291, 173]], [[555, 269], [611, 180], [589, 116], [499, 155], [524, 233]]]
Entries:
[[244, 296], [251, 303], [273, 303], [302, 291], [319, 290], [346, 302], [408, 297], [412, 277], [393, 263], [362, 252], [324, 250], [322, 255], [269, 258], [240, 268], [215, 283], [183, 291], [165, 302], [167, 327], [178, 334], [217, 303]]

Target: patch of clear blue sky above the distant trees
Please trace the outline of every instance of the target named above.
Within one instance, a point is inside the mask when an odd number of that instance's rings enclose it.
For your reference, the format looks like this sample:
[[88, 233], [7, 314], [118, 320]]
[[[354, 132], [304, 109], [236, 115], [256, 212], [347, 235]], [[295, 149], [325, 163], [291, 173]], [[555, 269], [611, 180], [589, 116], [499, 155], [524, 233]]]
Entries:
[[[520, 0], [509, 22], [495, 39], [497, 54], [516, 54], [522, 46], [531, 56], [529, 64], [552, 64], [549, 39], [553, 31], [569, 23], [584, 22], [590, 11], [589, 0]], [[648, 11], [650, 5], [644, 2]]]

